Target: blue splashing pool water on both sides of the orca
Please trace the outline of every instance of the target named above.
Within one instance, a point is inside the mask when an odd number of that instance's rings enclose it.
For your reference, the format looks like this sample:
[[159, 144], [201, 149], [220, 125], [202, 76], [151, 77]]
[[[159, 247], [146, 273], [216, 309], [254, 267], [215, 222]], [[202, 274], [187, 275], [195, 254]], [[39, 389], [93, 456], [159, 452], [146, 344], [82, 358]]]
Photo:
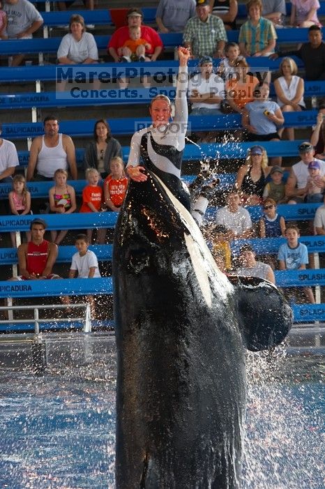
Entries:
[[[87, 361], [52, 342], [43, 376], [1, 368], [1, 489], [114, 488], [114, 340], [104, 341], [87, 345]], [[320, 361], [248, 356], [243, 489], [324, 489]]]

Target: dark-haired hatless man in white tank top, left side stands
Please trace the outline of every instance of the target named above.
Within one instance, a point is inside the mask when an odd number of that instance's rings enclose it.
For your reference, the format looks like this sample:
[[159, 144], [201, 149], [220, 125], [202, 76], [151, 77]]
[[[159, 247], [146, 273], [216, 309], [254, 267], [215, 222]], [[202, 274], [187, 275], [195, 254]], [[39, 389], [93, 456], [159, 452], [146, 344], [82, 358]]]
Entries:
[[77, 180], [75, 145], [71, 137], [59, 133], [55, 116], [45, 117], [44, 132], [44, 136], [36, 137], [31, 144], [27, 180], [52, 180], [54, 172], [59, 169], [70, 171], [73, 180]]

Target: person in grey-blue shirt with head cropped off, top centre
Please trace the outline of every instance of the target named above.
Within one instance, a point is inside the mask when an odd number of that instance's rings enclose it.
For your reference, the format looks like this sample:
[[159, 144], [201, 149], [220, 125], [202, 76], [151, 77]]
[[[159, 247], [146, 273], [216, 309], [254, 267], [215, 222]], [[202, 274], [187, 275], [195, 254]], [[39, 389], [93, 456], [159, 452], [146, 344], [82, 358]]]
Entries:
[[195, 16], [195, 0], [160, 0], [156, 12], [158, 31], [183, 32], [186, 22]]

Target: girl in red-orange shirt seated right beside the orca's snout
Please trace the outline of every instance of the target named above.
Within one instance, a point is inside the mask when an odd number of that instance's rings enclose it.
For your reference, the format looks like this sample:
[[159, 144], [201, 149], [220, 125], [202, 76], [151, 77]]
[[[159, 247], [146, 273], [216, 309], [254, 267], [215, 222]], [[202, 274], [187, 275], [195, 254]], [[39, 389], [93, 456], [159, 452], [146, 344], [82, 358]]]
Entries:
[[114, 156], [109, 162], [109, 170], [110, 174], [104, 181], [105, 204], [109, 211], [119, 212], [128, 188], [122, 158]]

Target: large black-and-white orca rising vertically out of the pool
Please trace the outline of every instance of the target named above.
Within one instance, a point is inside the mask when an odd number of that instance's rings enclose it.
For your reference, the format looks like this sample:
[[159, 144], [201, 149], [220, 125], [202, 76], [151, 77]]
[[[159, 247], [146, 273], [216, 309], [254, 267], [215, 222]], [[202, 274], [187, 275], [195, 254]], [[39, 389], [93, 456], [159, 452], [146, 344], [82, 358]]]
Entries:
[[292, 310], [266, 280], [220, 272], [152, 172], [114, 234], [117, 489], [239, 489], [245, 347], [278, 345]]

